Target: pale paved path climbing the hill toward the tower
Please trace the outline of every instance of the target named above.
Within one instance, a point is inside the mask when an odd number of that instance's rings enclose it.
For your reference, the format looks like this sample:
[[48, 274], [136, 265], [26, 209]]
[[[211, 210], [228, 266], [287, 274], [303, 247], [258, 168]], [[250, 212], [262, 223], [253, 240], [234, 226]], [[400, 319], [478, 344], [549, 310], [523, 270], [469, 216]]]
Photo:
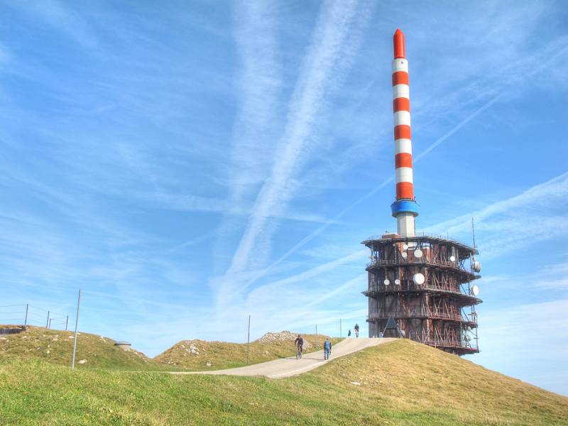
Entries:
[[[368, 348], [369, 346], [376, 346], [391, 342], [396, 339], [345, 339], [338, 344], [334, 344], [332, 348], [331, 359], [339, 358], [347, 354], [352, 354], [361, 349]], [[322, 366], [327, 361], [324, 361], [324, 351], [311, 352], [304, 354], [302, 359], [296, 359], [295, 356], [290, 358], [275, 359], [274, 361], [263, 362], [261, 364], [253, 364], [251, 366], [228, 368], [226, 370], [214, 371], [180, 371], [172, 372], [171, 374], [227, 374], [229, 376], [266, 376], [270, 378], [284, 378], [290, 376], [297, 376], [298, 374], [305, 373], [306, 371], [313, 370]]]

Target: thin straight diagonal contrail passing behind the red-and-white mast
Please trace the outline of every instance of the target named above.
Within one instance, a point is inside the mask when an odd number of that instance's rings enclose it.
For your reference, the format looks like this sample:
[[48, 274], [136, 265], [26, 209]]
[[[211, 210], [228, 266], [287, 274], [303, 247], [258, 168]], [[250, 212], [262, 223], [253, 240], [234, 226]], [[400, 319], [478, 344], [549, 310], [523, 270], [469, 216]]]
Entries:
[[[432, 143], [430, 146], [428, 146], [425, 151], [423, 151], [422, 153], [420, 153], [420, 155], [417, 155], [417, 157], [415, 158], [415, 163], [417, 163], [418, 161], [420, 161], [421, 158], [423, 158], [425, 155], [427, 155], [428, 153], [430, 153], [430, 151], [432, 151], [434, 148], [436, 148], [437, 146], [439, 146], [440, 143], [443, 143], [444, 141], [447, 140], [447, 138], [449, 138], [450, 136], [454, 135], [454, 133], [456, 133], [457, 131], [459, 131], [459, 129], [461, 129], [463, 126], [465, 126], [466, 124], [469, 123], [469, 121], [471, 121], [472, 119], [474, 119], [476, 116], [478, 116], [479, 114], [481, 114], [481, 112], [485, 111], [486, 109], [488, 109], [489, 107], [491, 107], [491, 105], [493, 105], [495, 102], [497, 102], [497, 100], [499, 99], [499, 97], [501, 97], [501, 94], [498, 94], [496, 97], [493, 97], [489, 102], [487, 102], [486, 104], [484, 104], [483, 107], [477, 109], [476, 111], [474, 111], [473, 113], [469, 114], [469, 116], [466, 116], [465, 119], [463, 119], [462, 121], [459, 122], [459, 124], [457, 124], [456, 126], [454, 126], [454, 128], [450, 131], [448, 131], [447, 133], [444, 134], [444, 136], [438, 138], [434, 143]], [[375, 187], [373, 190], [367, 192], [365, 195], [363, 195], [361, 198], [359, 198], [359, 200], [354, 201], [353, 203], [349, 204], [349, 206], [345, 207], [344, 209], [342, 209], [341, 212], [337, 213], [334, 217], [332, 217], [332, 219], [329, 219], [327, 222], [324, 222], [324, 224], [322, 224], [322, 226], [320, 226], [319, 228], [315, 229], [315, 231], [313, 231], [311, 234], [308, 234], [307, 236], [305, 236], [302, 240], [300, 240], [297, 244], [295, 244], [295, 246], [292, 247], [292, 249], [288, 250], [286, 253], [284, 253], [282, 256], [280, 256], [280, 258], [278, 258], [274, 263], [272, 263], [271, 265], [267, 266], [265, 269], [263, 269], [261, 272], [259, 272], [256, 276], [254, 276], [253, 278], [251, 278], [251, 280], [249, 280], [248, 283], [246, 283], [246, 285], [244, 286], [244, 288], [248, 288], [250, 285], [252, 285], [253, 283], [256, 282], [256, 280], [258, 280], [258, 278], [262, 278], [264, 275], [266, 275], [266, 273], [268, 273], [268, 271], [271, 271], [272, 268], [274, 268], [275, 266], [278, 266], [280, 263], [282, 263], [283, 261], [285, 261], [287, 258], [289, 258], [293, 253], [295, 253], [298, 249], [301, 249], [303, 246], [305, 246], [305, 244], [307, 244], [308, 242], [312, 241], [312, 239], [314, 239], [316, 236], [322, 234], [323, 231], [325, 231], [327, 228], [329, 228], [329, 226], [331, 224], [334, 224], [335, 222], [337, 222], [337, 220], [341, 219], [344, 214], [346, 214], [346, 212], [349, 212], [349, 210], [353, 209], [354, 207], [356, 207], [357, 205], [361, 204], [361, 202], [364, 202], [365, 200], [367, 200], [369, 197], [372, 197], [373, 195], [375, 195], [378, 191], [380, 191], [381, 189], [383, 189], [383, 187], [386, 187], [386, 185], [388, 185], [389, 183], [391, 183], [394, 180], [394, 176], [391, 175], [390, 178], [387, 178], [386, 180], [383, 180], [383, 182], [381, 182], [380, 185], [378, 185], [377, 187]]]

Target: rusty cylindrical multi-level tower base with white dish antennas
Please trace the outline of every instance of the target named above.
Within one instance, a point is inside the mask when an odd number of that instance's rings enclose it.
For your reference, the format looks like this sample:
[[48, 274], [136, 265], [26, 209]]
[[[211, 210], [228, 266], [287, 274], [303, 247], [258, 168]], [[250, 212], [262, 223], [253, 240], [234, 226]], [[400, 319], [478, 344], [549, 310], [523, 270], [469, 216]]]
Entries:
[[453, 354], [479, 352], [475, 305], [479, 289], [477, 250], [439, 236], [385, 234], [363, 241], [368, 263], [369, 337], [398, 337], [386, 324], [392, 318], [403, 337]]

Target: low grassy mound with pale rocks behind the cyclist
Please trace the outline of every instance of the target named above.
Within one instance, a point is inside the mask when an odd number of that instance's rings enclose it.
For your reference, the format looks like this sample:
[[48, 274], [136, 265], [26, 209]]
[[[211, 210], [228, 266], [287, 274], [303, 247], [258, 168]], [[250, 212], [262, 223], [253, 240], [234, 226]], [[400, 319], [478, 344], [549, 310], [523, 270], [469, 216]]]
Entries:
[[[260, 339], [251, 342], [248, 364], [294, 356], [296, 353], [294, 346], [296, 335], [296, 333], [287, 331], [267, 333]], [[321, 334], [317, 336], [317, 348], [315, 334], [302, 334], [302, 338], [305, 342], [305, 350], [315, 351], [322, 349], [322, 344], [327, 336]], [[332, 343], [339, 342], [339, 340], [332, 338]], [[155, 361], [192, 371], [219, 370], [247, 365], [246, 352], [246, 343], [183, 340], [156, 356]]]

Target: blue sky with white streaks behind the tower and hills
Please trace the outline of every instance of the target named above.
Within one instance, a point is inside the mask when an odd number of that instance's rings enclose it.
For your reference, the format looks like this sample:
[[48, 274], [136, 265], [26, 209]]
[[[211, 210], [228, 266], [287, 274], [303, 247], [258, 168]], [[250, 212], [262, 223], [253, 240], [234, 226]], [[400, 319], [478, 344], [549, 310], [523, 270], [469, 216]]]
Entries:
[[253, 338], [364, 325], [400, 27], [417, 229], [471, 243], [476, 219], [467, 358], [568, 395], [565, 2], [0, 8], [2, 305], [40, 324], [82, 288], [83, 331], [151, 356], [243, 342], [249, 314]]

